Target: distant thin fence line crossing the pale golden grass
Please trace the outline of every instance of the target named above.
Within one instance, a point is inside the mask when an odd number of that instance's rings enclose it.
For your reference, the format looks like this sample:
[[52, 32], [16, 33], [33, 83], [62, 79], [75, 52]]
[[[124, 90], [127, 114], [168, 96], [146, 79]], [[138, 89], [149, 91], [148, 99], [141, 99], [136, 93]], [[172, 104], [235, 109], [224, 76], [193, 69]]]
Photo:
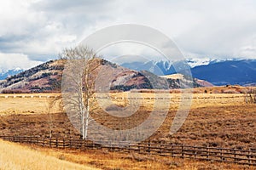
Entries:
[[[56, 98], [56, 95], [0, 95], [0, 98]], [[232, 96], [203, 96], [203, 97], [193, 97], [193, 98], [188, 98], [188, 97], [173, 97], [173, 98], [150, 98], [150, 97], [140, 97], [140, 98], [124, 98], [124, 97], [94, 97], [94, 99], [235, 99], [235, 98], [245, 98], [245, 96], [241, 95], [232, 95]]]

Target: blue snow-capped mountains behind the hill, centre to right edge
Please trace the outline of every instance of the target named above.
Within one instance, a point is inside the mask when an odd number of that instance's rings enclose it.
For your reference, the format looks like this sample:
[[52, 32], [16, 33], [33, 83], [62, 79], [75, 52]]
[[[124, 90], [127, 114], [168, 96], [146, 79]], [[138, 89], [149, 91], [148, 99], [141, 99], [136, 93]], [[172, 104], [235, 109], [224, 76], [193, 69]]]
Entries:
[[[201, 65], [198, 65], [198, 64]], [[197, 60], [189, 60], [191, 66], [192, 77], [196, 77], [207, 82], [211, 82], [215, 86], [222, 85], [241, 85], [253, 86], [256, 84], [256, 59], [241, 59], [241, 60], [217, 60], [208, 59], [205, 62]], [[124, 63], [123, 66], [132, 70], [148, 70], [156, 75], [164, 76], [176, 74], [177, 71], [173, 66], [165, 61], [153, 62], [134, 62]]]

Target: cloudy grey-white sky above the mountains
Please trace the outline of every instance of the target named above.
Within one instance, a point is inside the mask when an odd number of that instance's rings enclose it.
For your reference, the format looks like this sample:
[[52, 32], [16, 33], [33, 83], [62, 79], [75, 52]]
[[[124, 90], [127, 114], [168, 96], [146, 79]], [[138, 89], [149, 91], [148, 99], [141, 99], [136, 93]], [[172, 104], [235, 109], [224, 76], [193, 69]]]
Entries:
[[128, 23], [161, 31], [188, 59], [256, 59], [253, 0], [8, 0], [0, 1], [0, 69], [57, 59], [95, 31]]

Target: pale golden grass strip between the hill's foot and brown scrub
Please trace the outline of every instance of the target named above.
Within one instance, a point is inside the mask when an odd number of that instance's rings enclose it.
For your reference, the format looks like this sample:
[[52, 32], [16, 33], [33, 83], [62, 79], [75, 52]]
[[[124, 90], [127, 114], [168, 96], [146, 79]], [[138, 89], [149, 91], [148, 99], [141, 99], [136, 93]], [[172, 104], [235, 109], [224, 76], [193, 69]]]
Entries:
[[[127, 98], [129, 93], [113, 93], [110, 96]], [[0, 115], [30, 115], [30, 114], [48, 114], [49, 113], [49, 102], [52, 98], [60, 94], [0, 94]], [[5, 96], [9, 96], [5, 98]], [[31, 98], [33, 96], [33, 98]], [[40, 96], [41, 98], [39, 98]], [[99, 96], [106, 96], [105, 94], [100, 94]], [[131, 97], [143, 97], [143, 98], [155, 98], [155, 97], [166, 97], [170, 99], [170, 105], [172, 108], [177, 108], [178, 102], [182, 94], [131, 94]], [[236, 105], [244, 102], [244, 94], [189, 94], [193, 97], [191, 108], [207, 107], [212, 105]], [[233, 98], [235, 97], [235, 98]], [[204, 99], [206, 98], [206, 99]], [[210, 98], [210, 99], [207, 99]], [[214, 99], [216, 98], [216, 99]], [[106, 99], [100, 99], [104, 102]], [[128, 99], [126, 99], [127, 102]], [[165, 100], [166, 101], [166, 100]], [[113, 99], [114, 104], [124, 105], [124, 99]], [[107, 104], [109, 101], [107, 102]], [[154, 99], [144, 99], [142, 101], [143, 105], [151, 108], [155, 101]], [[166, 104], [165, 104], [166, 105]], [[161, 106], [161, 105], [159, 105]], [[54, 109], [51, 108], [51, 112], [60, 112], [61, 109], [56, 105]]]

